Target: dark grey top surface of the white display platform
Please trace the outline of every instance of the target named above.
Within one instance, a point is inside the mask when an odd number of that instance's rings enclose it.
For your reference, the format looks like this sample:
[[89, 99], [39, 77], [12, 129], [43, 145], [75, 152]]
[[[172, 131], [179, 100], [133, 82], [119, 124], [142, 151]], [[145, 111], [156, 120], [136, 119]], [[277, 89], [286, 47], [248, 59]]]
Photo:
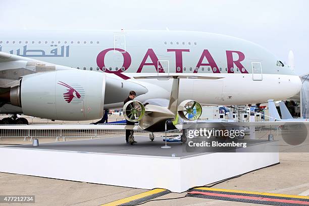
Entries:
[[[189, 158], [208, 153], [203, 151], [186, 152], [185, 145], [181, 142], [167, 142], [167, 144], [171, 146], [171, 148], [161, 148], [161, 146], [165, 145], [162, 137], [156, 137], [154, 141], [150, 141], [148, 136], [136, 136], [135, 140], [137, 141], [137, 143], [133, 145], [126, 144], [125, 137], [121, 136], [101, 139], [39, 143], [39, 146], [32, 146], [31, 143], [23, 145], [11, 145], [6, 147], [50, 149], [75, 152], [99, 152], [113, 153], [119, 155], [142, 155], [152, 157], [173, 157], [172, 154], [176, 154], [176, 158]], [[251, 142], [251, 144], [261, 144], [266, 142], [267, 141], [265, 140], [255, 140], [254, 142]]]

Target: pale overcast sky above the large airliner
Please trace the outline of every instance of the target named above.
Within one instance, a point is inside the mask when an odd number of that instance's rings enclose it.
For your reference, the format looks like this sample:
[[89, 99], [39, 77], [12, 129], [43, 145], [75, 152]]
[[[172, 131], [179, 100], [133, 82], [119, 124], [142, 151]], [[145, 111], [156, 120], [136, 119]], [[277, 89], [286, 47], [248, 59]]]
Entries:
[[243, 38], [309, 72], [307, 0], [11, 0], [2, 1], [0, 28], [15, 30], [190, 30]]

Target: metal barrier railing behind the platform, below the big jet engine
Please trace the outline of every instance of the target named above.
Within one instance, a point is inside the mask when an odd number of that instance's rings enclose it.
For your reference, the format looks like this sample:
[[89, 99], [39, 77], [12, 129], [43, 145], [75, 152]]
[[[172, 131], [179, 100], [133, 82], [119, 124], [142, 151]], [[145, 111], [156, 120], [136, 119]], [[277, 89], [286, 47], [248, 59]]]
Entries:
[[[111, 128], [108, 128], [111, 126]], [[116, 126], [116, 129], [113, 128]], [[101, 138], [106, 136], [124, 136], [125, 129], [117, 129], [116, 124], [110, 125], [12, 125], [12, 126], [0, 126], [0, 139], [2, 137], [24, 137], [24, 141], [30, 138], [49, 137], [56, 138], [59, 141], [63, 138], [75, 137], [75, 138]], [[13, 128], [12, 128], [13, 127]], [[67, 127], [67, 128], [66, 128]], [[91, 128], [96, 127], [96, 128]], [[102, 127], [102, 128], [100, 128]], [[134, 130], [136, 135], [145, 135], [149, 132], [143, 130]], [[168, 134], [181, 134], [181, 130], [171, 130]], [[165, 134], [165, 133], [161, 133]]]

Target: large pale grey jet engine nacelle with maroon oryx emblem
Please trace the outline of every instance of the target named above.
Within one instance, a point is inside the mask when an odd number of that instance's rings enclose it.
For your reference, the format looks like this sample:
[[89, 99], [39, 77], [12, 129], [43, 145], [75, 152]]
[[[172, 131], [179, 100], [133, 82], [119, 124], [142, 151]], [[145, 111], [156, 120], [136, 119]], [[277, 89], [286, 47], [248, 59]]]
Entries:
[[93, 120], [103, 116], [106, 75], [59, 70], [22, 77], [11, 88], [11, 104], [23, 114], [52, 120]]

